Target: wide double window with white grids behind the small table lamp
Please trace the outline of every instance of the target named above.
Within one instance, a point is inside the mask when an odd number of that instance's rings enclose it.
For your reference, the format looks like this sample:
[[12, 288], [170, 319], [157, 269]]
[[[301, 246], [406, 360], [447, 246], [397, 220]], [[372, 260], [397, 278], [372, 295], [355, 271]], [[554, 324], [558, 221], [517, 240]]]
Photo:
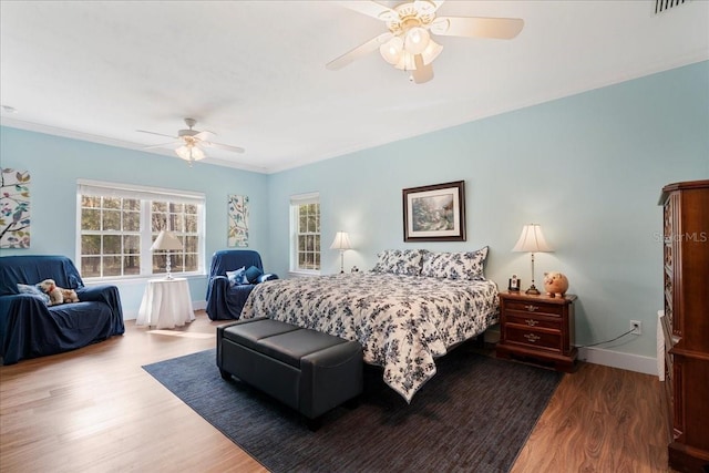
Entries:
[[169, 251], [172, 273], [204, 273], [203, 194], [80, 181], [76, 207], [83, 278], [164, 274], [167, 253], [151, 251], [163, 229], [183, 246]]

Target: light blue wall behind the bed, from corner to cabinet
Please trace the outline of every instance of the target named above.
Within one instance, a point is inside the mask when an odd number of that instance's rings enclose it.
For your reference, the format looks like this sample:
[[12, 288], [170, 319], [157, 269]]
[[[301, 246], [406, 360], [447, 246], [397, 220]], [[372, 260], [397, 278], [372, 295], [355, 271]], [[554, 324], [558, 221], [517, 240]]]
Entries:
[[[474, 93], [474, 91], [471, 91]], [[356, 133], [356, 131], [353, 131]], [[505, 288], [530, 284], [530, 255], [512, 253], [522, 226], [542, 225], [551, 254], [537, 254], [536, 281], [559, 270], [579, 301], [576, 342], [607, 340], [630, 319], [644, 336], [606, 345], [656, 354], [662, 308], [664, 185], [709, 178], [709, 62], [270, 176], [271, 270], [288, 269], [288, 199], [318, 191], [325, 273], [337, 230], [354, 250], [346, 267], [370, 269], [386, 248], [465, 250], [490, 245], [486, 274]], [[401, 189], [465, 181], [467, 241], [403, 243]]]

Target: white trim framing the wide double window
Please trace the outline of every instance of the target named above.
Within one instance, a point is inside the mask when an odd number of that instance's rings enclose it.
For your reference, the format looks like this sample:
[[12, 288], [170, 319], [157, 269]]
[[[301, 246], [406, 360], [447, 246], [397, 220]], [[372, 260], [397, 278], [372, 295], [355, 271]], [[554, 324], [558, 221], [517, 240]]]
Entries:
[[[86, 193], [91, 194], [92, 192], [100, 193], [99, 195], [109, 195], [115, 197], [127, 197], [127, 198], [142, 198], [142, 199], [169, 199], [175, 203], [183, 204], [198, 204], [202, 207], [202, 218], [199, 219], [199, 230], [198, 233], [202, 235], [199, 239], [199, 248], [198, 253], [202, 256], [198, 258], [197, 270], [195, 271], [186, 271], [179, 273], [178, 277], [185, 277], [192, 279], [194, 277], [204, 277], [206, 276], [206, 195], [204, 193], [192, 192], [192, 191], [183, 191], [183, 189], [171, 189], [164, 187], [153, 187], [153, 186], [141, 186], [134, 184], [125, 184], [125, 183], [113, 183], [109, 181], [93, 181], [93, 179], [76, 179], [76, 238], [75, 238], [75, 248], [74, 248], [74, 261], [80, 265], [81, 261], [81, 196]], [[141, 219], [145, 218], [143, 212], [141, 212]], [[141, 222], [141, 226], [145, 223]], [[145, 236], [144, 236], [145, 237]], [[145, 261], [141, 261], [141, 265], [144, 265]], [[141, 267], [141, 273], [143, 273], [143, 267]], [[124, 282], [131, 280], [147, 280], [155, 279], [156, 277], [161, 277], [162, 274], [141, 274], [141, 275], [131, 275], [131, 276], [106, 276], [106, 277], [83, 277], [85, 285], [91, 284], [104, 284], [104, 282]]]

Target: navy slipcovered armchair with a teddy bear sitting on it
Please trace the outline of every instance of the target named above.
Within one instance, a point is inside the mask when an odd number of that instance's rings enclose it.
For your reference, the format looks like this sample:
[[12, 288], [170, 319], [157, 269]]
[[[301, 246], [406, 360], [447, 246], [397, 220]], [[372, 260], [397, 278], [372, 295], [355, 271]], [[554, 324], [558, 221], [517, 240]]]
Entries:
[[[48, 306], [35, 285], [54, 279], [74, 289], [79, 302]], [[23, 255], [0, 258], [0, 348], [3, 364], [61, 353], [123, 335], [123, 309], [115, 286], [84, 287], [65, 256]]]

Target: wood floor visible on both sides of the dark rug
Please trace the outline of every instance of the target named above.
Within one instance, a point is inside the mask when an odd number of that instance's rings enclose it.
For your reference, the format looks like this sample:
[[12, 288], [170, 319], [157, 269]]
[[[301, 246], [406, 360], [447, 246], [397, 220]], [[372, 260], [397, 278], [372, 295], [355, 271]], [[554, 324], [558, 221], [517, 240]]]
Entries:
[[[265, 472], [141, 367], [215, 346], [204, 312], [0, 367], [0, 470]], [[435, 382], [435, 380], [431, 381]], [[513, 472], [667, 472], [657, 378], [596, 364], [566, 374]]]

